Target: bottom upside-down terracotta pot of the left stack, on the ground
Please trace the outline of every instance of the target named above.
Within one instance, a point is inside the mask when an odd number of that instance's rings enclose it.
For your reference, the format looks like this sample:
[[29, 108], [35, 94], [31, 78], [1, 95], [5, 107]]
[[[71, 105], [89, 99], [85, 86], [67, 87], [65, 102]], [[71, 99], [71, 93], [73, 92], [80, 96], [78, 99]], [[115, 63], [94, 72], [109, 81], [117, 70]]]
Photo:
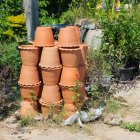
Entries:
[[37, 115], [38, 105], [36, 102], [21, 102], [21, 117], [35, 117]]

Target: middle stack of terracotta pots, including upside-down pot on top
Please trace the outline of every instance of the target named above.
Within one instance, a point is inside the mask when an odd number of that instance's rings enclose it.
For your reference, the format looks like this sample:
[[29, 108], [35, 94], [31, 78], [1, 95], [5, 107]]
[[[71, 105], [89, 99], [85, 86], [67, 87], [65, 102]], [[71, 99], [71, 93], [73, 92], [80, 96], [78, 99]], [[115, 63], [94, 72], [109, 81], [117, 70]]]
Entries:
[[62, 65], [58, 47], [54, 45], [51, 27], [37, 27], [34, 45], [35, 47], [43, 48], [39, 63], [43, 79], [43, 90], [39, 102], [43, 115], [48, 117], [59, 113], [61, 105], [61, 94], [58, 84]]

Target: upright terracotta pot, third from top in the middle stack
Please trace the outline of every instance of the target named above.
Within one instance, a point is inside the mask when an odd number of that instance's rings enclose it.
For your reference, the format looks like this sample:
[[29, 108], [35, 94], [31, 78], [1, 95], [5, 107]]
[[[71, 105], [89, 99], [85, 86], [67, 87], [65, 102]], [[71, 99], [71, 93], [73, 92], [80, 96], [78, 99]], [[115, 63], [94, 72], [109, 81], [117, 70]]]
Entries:
[[62, 66], [41, 68], [43, 83], [45, 85], [57, 85], [59, 83]]

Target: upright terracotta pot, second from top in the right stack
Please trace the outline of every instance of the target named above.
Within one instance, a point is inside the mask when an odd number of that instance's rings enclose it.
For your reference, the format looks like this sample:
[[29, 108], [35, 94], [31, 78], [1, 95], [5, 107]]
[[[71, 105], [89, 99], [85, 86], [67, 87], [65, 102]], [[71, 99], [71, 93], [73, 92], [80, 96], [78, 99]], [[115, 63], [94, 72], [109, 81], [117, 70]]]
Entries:
[[80, 48], [66, 49], [59, 48], [62, 64], [66, 67], [77, 67], [80, 61]]

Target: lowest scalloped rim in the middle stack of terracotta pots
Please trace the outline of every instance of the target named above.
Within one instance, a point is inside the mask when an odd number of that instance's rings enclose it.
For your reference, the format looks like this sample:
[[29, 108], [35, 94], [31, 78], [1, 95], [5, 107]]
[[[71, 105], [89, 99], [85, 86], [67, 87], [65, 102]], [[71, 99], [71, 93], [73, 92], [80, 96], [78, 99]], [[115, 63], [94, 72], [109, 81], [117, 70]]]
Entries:
[[56, 105], [61, 106], [62, 102], [63, 102], [63, 99], [61, 99], [60, 101], [55, 102], [55, 103], [49, 103], [49, 102], [47, 103], [44, 98], [39, 99], [39, 103], [43, 106], [50, 106], [50, 105], [51, 106], [56, 106]]

